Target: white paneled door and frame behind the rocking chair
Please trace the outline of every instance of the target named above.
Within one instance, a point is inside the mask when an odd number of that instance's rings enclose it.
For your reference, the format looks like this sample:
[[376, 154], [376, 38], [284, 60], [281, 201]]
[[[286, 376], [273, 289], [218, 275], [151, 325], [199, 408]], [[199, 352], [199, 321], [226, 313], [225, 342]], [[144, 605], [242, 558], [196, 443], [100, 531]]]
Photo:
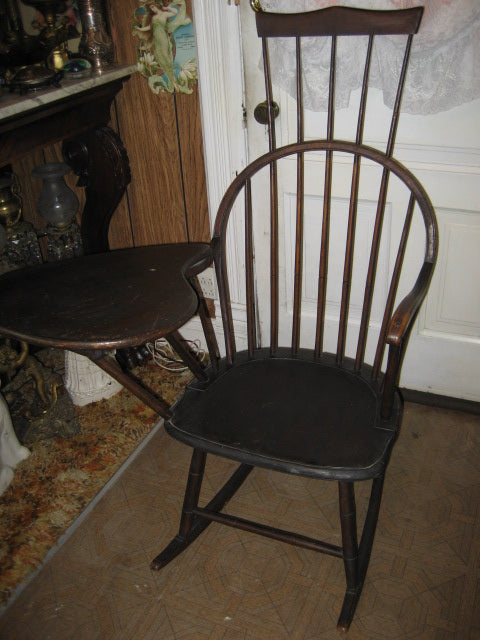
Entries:
[[[259, 65], [260, 43], [255, 32], [253, 12], [248, 2], [235, 7], [233, 3], [229, 6], [224, 0], [215, 3], [213, 20], [209, 7], [211, 4], [209, 0], [195, 2], [207, 181], [213, 218], [228, 182], [243, 168], [247, 157], [253, 159], [262, 155], [268, 150], [268, 144], [265, 127], [253, 118], [255, 105], [265, 99], [263, 74]], [[222, 55], [222, 51], [225, 55]], [[245, 88], [243, 100], [242, 87]], [[280, 105], [277, 120], [277, 145], [280, 146], [295, 139], [296, 105], [293, 99], [279, 89], [274, 88], [274, 94]], [[337, 119], [340, 128], [336, 132], [338, 137], [341, 137], [342, 123], [348, 120], [349, 112], [355, 113], [355, 99], [354, 95], [349, 109], [345, 109]], [[386, 130], [385, 123], [389, 120], [390, 112], [383, 105], [380, 92], [371, 91], [369, 100], [369, 108], [373, 107], [375, 117], [369, 121], [370, 124], [367, 122], [364, 140], [366, 144], [383, 148], [384, 140], [378, 132]], [[223, 137], [219, 140], [221, 132], [218, 120], [222, 117], [226, 117], [226, 124]], [[439, 261], [428, 298], [412, 332], [401, 385], [475, 401], [480, 401], [479, 123], [480, 100], [436, 115], [403, 114], [394, 153], [429, 193], [436, 209], [440, 235]], [[309, 113], [306, 137], [324, 137], [324, 131], [325, 115]], [[344, 169], [347, 171], [348, 168]], [[340, 166], [340, 176], [342, 170]], [[294, 171], [293, 168], [292, 176]], [[321, 171], [318, 175], [321, 175]], [[375, 176], [372, 174], [372, 192], [374, 183]], [[281, 198], [282, 232], [288, 241], [288, 236], [292, 233], [295, 205], [288, 177], [285, 184], [285, 192]], [[349, 189], [349, 180], [346, 180], [346, 184]], [[315, 181], [312, 181], [307, 185], [305, 202], [307, 274], [310, 255], [314, 264], [313, 256], [319, 233], [316, 215], [319, 205], [321, 208], [319, 198], [319, 189]], [[346, 210], [346, 198], [348, 192], [343, 194], [339, 189], [332, 202], [336, 212], [332, 217], [337, 220], [333, 242], [338, 241], [339, 245], [342, 242], [342, 225], [345, 225], [343, 212]], [[392, 234], [395, 232], [393, 214], [398, 204], [393, 189], [385, 221], [386, 230], [391, 230]], [[359, 221], [365, 223], [358, 225], [365, 229], [365, 237], [360, 235], [357, 239], [361, 251], [362, 242], [367, 242], [368, 229], [375, 215], [368, 193], [361, 199], [358, 215]], [[234, 238], [232, 242], [235, 242]], [[384, 277], [386, 282], [392, 256], [388, 244], [382, 251], [379, 257], [379, 277]], [[288, 255], [282, 266], [282, 277], [287, 284], [292, 270], [292, 261]], [[413, 263], [410, 267], [407, 265], [407, 271], [411, 268], [413, 273], [415, 266]], [[333, 265], [335, 267], [340, 271], [342, 265]], [[262, 269], [260, 264], [257, 265], [257, 271], [260, 274], [257, 285], [261, 295], [262, 287], [267, 286], [262, 282], [262, 274], [266, 274], [266, 269]], [[309, 291], [308, 281], [306, 278], [303, 305], [307, 327], [309, 313], [314, 317], [313, 303], [309, 309], [309, 299], [313, 299], [314, 291]], [[241, 290], [237, 296], [241, 307]], [[338, 305], [334, 289], [328, 297], [333, 317]], [[355, 301], [353, 303], [351, 322], [354, 324]], [[288, 305], [289, 300], [285, 299], [284, 304]], [[376, 322], [375, 309], [372, 312], [372, 322]]]

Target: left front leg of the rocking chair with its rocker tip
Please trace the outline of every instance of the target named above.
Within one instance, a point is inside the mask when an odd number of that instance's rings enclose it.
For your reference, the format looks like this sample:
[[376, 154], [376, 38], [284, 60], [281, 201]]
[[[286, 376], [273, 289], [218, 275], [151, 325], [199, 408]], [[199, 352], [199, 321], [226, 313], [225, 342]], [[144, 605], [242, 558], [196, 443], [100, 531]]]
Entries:
[[198, 506], [206, 457], [204, 451], [199, 451], [198, 449], [193, 450], [178, 534], [165, 549], [152, 560], [150, 568], [155, 571], [167, 565], [184, 551], [205, 529], [205, 527], [194, 527], [198, 517], [194, 515], [193, 510]]

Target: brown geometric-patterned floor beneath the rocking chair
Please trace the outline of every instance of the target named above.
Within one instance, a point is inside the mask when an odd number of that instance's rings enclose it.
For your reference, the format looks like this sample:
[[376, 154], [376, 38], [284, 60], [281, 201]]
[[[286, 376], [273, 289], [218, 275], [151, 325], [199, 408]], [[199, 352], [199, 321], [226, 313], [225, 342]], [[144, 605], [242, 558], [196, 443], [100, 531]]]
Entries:
[[[338, 638], [338, 559], [212, 524], [150, 571], [176, 532], [188, 462], [160, 430], [7, 609], [0, 638]], [[207, 467], [205, 497], [229, 470]], [[349, 639], [480, 639], [479, 505], [480, 417], [407, 404]], [[334, 484], [255, 471], [229, 510], [339, 543]]]

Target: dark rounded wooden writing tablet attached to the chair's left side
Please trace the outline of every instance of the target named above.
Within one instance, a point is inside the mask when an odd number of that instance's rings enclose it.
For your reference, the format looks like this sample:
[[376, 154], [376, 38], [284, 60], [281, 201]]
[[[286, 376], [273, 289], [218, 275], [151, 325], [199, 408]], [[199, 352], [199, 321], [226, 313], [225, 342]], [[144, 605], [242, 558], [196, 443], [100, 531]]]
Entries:
[[186, 276], [211, 263], [208, 244], [120, 249], [0, 277], [0, 333], [72, 350], [142, 344], [196, 312]]

